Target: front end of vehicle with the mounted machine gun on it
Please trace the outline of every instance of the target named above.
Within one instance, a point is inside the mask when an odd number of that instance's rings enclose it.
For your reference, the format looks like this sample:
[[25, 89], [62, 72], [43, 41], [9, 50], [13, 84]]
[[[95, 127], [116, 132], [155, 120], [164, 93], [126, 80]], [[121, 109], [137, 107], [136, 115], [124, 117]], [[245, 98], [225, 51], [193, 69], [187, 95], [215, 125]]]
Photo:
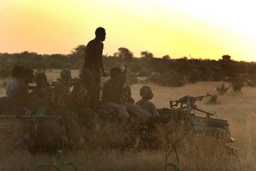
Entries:
[[[207, 93], [204, 96], [183, 96], [179, 100], [170, 101], [170, 109], [158, 109], [159, 115], [171, 115], [178, 127], [185, 128], [187, 133], [203, 134], [205, 137], [214, 137], [216, 140], [225, 145], [225, 143], [233, 143], [235, 140], [231, 137], [229, 131], [229, 121], [211, 118], [216, 114], [209, 113], [196, 106], [196, 101], [202, 101], [204, 97], [212, 96]], [[191, 111], [196, 110], [206, 114], [206, 117], [195, 116]], [[214, 111], [215, 113], [215, 111]], [[225, 145], [226, 146], [226, 145]], [[233, 151], [236, 148], [227, 146]]]

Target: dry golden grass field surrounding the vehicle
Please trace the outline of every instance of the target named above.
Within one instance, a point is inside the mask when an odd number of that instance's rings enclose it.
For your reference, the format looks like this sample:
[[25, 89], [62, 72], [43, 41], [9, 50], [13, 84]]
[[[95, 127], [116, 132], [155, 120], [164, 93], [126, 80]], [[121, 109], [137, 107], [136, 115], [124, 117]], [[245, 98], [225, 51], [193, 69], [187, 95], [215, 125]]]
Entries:
[[[72, 76], [78, 77], [78, 70], [72, 70]], [[47, 70], [47, 77], [54, 81], [59, 77], [60, 70]], [[136, 83], [131, 86], [132, 96], [140, 100], [139, 90], [144, 84], [151, 86], [154, 98], [153, 103], [157, 108], [169, 107], [169, 101], [179, 99], [182, 96], [201, 96], [207, 92], [217, 94], [216, 87], [221, 82], [198, 82], [186, 84], [179, 88], [156, 86], [153, 83]], [[3, 83], [1, 83], [3, 85]], [[5, 88], [0, 89], [0, 95], [5, 95]], [[207, 98], [197, 103], [200, 109], [216, 114], [219, 119], [229, 120], [231, 137], [235, 143], [229, 144], [239, 148], [235, 155], [223, 153], [222, 148], [210, 140], [202, 142], [200, 137], [183, 137], [173, 129], [173, 122], [169, 122], [164, 128], [157, 128], [152, 135], [155, 148], [147, 148], [141, 140], [127, 140], [123, 138], [122, 131], [104, 127], [94, 120], [93, 133], [76, 127], [75, 135], [79, 139], [79, 147], [68, 148], [62, 159], [55, 160], [54, 153], [29, 153], [26, 148], [14, 149], [16, 135], [14, 128], [0, 133], [0, 170], [32, 170], [38, 165], [49, 163], [60, 164], [61, 160], [69, 161], [77, 170], [164, 170], [166, 145], [181, 137], [177, 145], [177, 162], [175, 153], [170, 153], [168, 163], [175, 163], [179, 170], [255, 170], [256, 168], [256, 88], [244, 87], [242, 92], [233, 93], [231, 90], [225, 95], [218, 95], [218, 105], [205, 105]], [[212, 116], [216, 118], [216, 116]], [[164, 129], [170, 129], [171, 135], [164, 133]], [[120, 133], [121, 132], [121, 133]], [[38, 170], [53, 170], [53, 168], [39, 168]], [[63, 170], [73, 170], [71, 166], [65, 166]], [[168, 170], [173, 170], [168, 168]]]

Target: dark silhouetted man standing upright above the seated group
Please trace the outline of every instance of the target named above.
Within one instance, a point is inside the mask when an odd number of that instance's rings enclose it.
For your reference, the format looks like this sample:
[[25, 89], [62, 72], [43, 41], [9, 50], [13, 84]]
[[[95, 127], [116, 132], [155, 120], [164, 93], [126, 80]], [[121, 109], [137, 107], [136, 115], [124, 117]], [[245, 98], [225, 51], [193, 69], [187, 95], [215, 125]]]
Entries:
[[105, 38], [105, 29], [98, 27], [95, 31], [95, 38], [90, 40], [86, 46], [86, 57], [84, 58], [84, 68], [90, 70], [92, 77], [94, 77], [94, 86], [97, 90], [95, 96], [98, 99], [100, 96], [101, 75], [107, 77], [102, 60], [103, 41]]

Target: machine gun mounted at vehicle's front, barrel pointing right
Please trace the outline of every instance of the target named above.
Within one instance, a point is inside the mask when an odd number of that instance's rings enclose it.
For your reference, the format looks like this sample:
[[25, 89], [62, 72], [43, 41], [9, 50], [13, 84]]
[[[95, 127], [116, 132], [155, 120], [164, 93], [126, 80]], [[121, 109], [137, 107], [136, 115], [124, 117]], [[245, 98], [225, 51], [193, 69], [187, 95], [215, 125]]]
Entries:
[[[214, 114], [209, 113], [207, 111], [203, 111], [199, 108], [197, 108], [197, 106], [194, 104], [196, 101], [202, 101], [204, 97], [206, 96], [212, 96], [212, 94], [209, 94], [207, 92], [207, 95], [204, 96], [183, 96], [182, 98], [180, 98], [179, 100], [175, 100], [175, 101], [170, 101], [170, 108], [171, 109], [175, 109], [175, 107], [178, 107], [178, 105], [180, 104], [180, 107], [177, 109], [186, 109], [186, 115], [189, 116], [190, 115], [190, 111], [192, 111], [192, 109], [197, 110], [197, 111], [201, 111], [205, 114], [207, 114], [207, 118], [209, 118], [210, 116], [214, 116]], [[183, 105], [185, 104], [185, 107], [183, 107]]]

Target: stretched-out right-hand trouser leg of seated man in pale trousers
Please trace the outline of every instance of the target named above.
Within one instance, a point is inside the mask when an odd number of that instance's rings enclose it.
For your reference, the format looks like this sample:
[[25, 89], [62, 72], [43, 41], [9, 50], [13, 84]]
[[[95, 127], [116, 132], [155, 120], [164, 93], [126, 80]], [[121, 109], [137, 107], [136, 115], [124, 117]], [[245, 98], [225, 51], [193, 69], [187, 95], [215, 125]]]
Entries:
[[129, 103], [123, 103], [122, 105], [127, 109], [127, 111], [131, 111], [139, 118], [142, 118], [143, 122], [146, 122], [152, 116], [149, 111], [142, 109], [139, 105], [132, 105]]

